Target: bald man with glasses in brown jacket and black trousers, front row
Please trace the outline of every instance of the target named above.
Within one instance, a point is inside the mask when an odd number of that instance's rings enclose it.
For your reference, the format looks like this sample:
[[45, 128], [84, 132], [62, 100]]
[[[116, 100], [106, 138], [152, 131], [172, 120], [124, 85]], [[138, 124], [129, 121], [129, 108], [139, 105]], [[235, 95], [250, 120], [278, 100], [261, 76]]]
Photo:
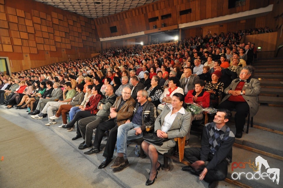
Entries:
[[98, 166], [98, 169], [105, 168], [111, 162], [117, 140], [118, 126], [126, 123], [126, 121], [131, 118], [135, 104], [136, 101], [131, 97], [131, 89], [129, 87], [123, 88], [122, 96], [117, 97], [115, 103], [110, 108], [111, 119], [99, 124], [96, 128], [93, 148], [84, 152], [84, 154], [99, 153], [103, 135], [105, 131], [111, 129], [103, 152], [104, 160]]

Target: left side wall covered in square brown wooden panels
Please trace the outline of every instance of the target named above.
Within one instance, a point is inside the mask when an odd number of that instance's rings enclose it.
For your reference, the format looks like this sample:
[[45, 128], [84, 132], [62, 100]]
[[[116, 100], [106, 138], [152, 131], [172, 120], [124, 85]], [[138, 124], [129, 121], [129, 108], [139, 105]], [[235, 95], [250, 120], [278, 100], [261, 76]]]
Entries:
[[[1, 56], [19, 60], [11, 67], [12, 71], [68, 58], [91, 57], [97, 36], [94, 21], [78, 14], [32, 0], [9, 0], [0, 4], [0, 52], [5, 53]], [[75, 47], [84, 52], [74, 51], [69, 57], [68, 49]]]

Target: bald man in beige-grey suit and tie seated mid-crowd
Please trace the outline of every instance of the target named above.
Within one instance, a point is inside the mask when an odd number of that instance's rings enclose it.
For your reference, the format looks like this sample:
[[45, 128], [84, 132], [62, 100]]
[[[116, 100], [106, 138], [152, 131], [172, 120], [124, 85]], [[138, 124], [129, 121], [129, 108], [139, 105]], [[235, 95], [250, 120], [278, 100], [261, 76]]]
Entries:
[[185, 95], [189, 90], [193, 90], [195, 88], [195, 81], [199, 79], [200, 77], [192, 75], [192, 70], [190, 68], [186, 68], [184, 70], [184, 77], [180, 79], [180, 88], [184, 90]]

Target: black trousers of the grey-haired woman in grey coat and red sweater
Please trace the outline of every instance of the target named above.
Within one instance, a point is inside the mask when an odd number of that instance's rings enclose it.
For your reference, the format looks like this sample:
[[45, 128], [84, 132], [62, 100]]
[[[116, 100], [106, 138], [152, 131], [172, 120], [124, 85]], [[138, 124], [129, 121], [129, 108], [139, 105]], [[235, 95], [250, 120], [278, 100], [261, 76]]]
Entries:
[[246, 123], [246, 117], [248, 116], [250, 110], [248, 103], [225, 100], [218, 106], [218, 108], [226, 108], [230, 111], [236, 109], [236, 114], [235, 114], [236, 133], [241, 133]]

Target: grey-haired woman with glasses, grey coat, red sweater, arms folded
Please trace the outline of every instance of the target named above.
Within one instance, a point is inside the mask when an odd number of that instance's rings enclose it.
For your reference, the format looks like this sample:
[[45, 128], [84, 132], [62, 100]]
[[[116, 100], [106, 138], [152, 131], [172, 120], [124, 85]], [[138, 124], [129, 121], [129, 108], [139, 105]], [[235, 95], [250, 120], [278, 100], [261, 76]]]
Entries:
[[259, 81], [252, 78], [253, 75], [254, 67], [250, 65], [244, 67], [240, 72], [240, 78], [233, 80], [224, 90], [226, 96], [219, 105], [219, 108], [236, 109], [236, 138], [242, 138], [243, 136], [243, 128], [248, 113], [253, 117], [259, 110], [259, 93], [261, 88]]

